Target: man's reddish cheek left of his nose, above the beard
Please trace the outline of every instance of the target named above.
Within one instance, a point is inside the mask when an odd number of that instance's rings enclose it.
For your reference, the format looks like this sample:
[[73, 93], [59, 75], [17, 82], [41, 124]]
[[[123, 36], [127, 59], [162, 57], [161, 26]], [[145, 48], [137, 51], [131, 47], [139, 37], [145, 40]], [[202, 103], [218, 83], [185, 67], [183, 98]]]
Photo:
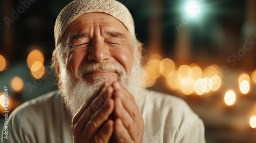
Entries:
[[74, 76], [78, 77], [78, 67], [86, 57], [86, 52], [84, 50], [73, 50], [68, 54], [67, 57], [67, 68], [72, 71]]

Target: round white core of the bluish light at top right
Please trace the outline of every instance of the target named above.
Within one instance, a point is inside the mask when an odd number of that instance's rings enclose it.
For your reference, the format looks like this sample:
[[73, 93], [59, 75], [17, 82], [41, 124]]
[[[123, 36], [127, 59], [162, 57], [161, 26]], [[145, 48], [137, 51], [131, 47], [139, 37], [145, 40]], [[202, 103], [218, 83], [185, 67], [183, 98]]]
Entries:
[[200, 12], [200, 6], [195, 1], [189, 1], [186, 5], [186, 14], [188, 18], [196, 17]]

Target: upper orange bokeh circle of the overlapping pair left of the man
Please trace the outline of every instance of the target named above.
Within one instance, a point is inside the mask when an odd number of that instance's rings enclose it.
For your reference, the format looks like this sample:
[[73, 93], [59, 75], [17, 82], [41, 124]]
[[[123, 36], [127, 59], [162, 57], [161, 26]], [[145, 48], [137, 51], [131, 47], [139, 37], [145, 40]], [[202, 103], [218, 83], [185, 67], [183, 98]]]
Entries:
[[29, 69], [31, 69], [31, 67], [35, 61], [39, 61], [41, 63], [44, 63], [44, 61], [45, 61], [44, 55], [42, 54], [42, 52], [40, 50], [37, 50], [37, 49], [31, 51], [28, 55], [27, 64], [28, 64]]

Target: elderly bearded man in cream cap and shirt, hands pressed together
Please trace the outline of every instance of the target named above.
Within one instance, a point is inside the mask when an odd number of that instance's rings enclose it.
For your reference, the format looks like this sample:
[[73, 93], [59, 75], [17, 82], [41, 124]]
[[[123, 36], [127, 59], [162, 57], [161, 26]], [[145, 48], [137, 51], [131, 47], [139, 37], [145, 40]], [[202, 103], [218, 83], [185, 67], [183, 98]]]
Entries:
[[145, 90], [133, 18], [114, 0], [77, 0], [58, 15], [59, 91], [19, 106], [3, 142], [205, 142], [181, 99]]

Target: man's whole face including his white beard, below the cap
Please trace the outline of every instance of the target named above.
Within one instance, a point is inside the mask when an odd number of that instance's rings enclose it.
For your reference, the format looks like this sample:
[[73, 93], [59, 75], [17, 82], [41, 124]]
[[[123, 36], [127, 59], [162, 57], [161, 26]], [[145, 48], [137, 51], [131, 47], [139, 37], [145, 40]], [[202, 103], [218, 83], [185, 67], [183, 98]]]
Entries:
[[141, 49], [119, 20], [104, 13], [83, 14], [61, 40], [59, 90], [72, 115], [105, 81], [119, 81], [142, 105]]

